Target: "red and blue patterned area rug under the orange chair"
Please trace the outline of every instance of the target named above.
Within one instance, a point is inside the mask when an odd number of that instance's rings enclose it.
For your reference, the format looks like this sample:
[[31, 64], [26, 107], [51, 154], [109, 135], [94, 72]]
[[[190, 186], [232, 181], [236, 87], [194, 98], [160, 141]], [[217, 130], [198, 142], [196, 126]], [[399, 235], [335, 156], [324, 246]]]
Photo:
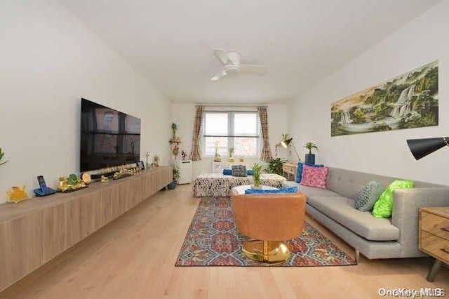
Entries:
[[[175, 266], [259, 266], [241, 251], [248, 238], [236, 230], [230, 197], [202, 197]], [[280, 267], [356, 265], [321, 232], [309, 225], [297, 239], [288, 240], [292, 254]]]

